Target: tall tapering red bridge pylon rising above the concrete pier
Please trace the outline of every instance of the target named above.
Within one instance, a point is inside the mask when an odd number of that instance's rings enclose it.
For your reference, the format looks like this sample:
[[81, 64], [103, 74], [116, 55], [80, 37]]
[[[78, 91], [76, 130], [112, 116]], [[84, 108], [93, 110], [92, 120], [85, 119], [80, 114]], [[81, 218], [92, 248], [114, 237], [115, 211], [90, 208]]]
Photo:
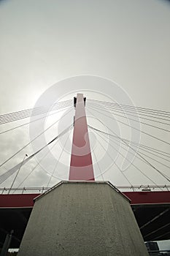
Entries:
[[94, 181], [83, 94], [77, 94], [69, 181]]

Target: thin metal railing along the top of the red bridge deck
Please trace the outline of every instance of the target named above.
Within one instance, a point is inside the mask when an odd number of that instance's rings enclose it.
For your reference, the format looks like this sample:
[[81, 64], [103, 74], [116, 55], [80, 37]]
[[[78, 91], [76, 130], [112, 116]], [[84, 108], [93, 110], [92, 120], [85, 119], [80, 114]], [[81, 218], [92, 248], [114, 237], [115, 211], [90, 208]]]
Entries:
[[[170, 191], [170, 185], [134, 185], [134, 186], [115, 186], [121, 192], [156, 192], [156, 191]], [[0, 194], [42, 194], [51, 187], [22, 187], [9, 188], [0, 187]]]

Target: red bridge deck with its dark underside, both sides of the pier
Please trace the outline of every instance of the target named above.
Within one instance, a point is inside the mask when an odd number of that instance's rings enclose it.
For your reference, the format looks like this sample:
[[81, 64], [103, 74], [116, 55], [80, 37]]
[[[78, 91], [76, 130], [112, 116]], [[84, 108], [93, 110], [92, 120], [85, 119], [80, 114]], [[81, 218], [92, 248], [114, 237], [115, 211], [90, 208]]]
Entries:
[[[131, 199], [131, 208], [144, 241], [170, 239], [170, 202], [167, 200], [170, 200], [170, 192], [123, 193]], [[0, 195], [0, 247], [6, 234], [14, 230], [10, 247], [19, 248], [34, 204], [33, 199], [37, 195], [39, 194]], [[155, 199], [152, 198], [153, 195]]]

